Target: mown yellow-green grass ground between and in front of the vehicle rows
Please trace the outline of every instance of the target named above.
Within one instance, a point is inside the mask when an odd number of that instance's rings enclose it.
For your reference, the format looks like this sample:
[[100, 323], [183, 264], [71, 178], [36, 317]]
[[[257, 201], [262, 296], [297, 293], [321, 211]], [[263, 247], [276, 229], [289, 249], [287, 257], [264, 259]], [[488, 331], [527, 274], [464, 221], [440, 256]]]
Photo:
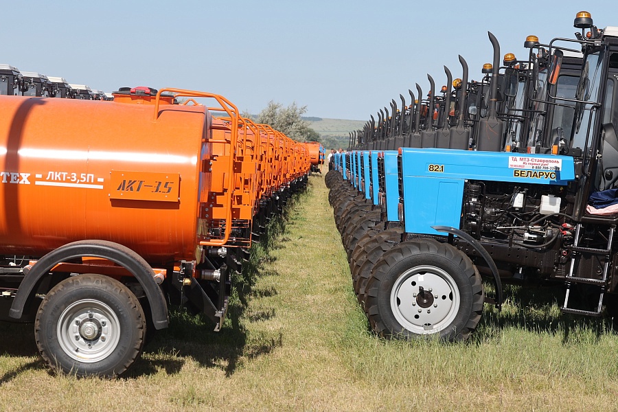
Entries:
[[507, 288], [466, 343], [376, 338], [327, 194], [313, 176], [254, 245], [221, 332], [173, 312], [122, 378], [49, 374], [32, 325], [0, 325], [0, 410], [617, 409], [618, 336], [608, 319], [560, 317], [555, 290]]

